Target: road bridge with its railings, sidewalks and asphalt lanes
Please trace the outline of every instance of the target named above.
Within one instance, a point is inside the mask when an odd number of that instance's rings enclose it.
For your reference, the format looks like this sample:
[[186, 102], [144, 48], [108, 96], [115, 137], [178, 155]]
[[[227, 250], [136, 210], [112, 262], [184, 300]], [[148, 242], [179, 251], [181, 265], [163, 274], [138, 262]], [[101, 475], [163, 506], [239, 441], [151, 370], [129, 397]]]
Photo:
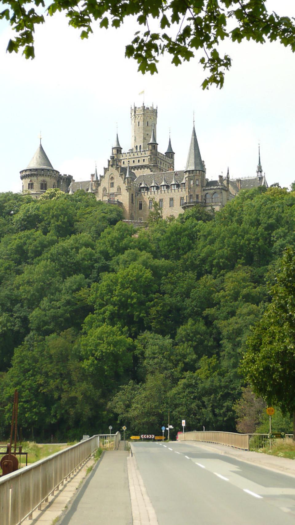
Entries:
[[[120, 445], [119, 433], [112, 435], [114, 449], [74, 490], [60, 525], [294, 524], [294, 461], [220, 444], [217, 438], [229, 439], [222, 433], [211, 439], [200, 434], [207, 442], [184, 433], [179, 442], [132, 443], [131, 453]], [[2, 477], [1, 525], [51, 525], [50, 508], [59, 498], [64, 506], [67, 488], [77, 486], [94, 451], [103, 439], [110, 445], [109, 438], [92, 436]]]

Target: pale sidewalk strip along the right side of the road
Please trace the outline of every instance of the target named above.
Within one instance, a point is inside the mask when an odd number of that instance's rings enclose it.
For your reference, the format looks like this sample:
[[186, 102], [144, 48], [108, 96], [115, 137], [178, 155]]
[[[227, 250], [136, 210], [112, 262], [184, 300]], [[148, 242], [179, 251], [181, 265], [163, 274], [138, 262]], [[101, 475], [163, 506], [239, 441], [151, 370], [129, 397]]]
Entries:
[[[176, 443], [176, 442], [175, 442]], [[202, 447], [211, 452], [218, 454], [225, 454], [240, 461], [246, 461], [257, 467], [268, 468], [275, 470], [280, 474], [287, 474], [288, 476], [295, 476], [295, 461], [293, 459], [280, 458], [278, 456], [271, 456], [263, 452], [252, 452], [249, 450], [239, 450], [238, 448], [227, 447], [226, 445], [218, 445], [217, 443], [204, 443], [200, 441], [179, 441], [177, 443], [183, 445], [193, 445]]]

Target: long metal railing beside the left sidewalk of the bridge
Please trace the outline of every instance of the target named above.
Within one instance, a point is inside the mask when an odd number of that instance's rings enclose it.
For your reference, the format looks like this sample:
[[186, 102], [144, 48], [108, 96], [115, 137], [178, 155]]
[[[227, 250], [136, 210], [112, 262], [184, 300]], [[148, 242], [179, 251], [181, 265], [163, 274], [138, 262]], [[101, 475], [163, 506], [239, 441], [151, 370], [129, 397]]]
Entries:
[[[117, 432], [113, 436], [117, 448], [121, 435]], [[47, 502], [98, 446], [99, 435], [95, 435], [0, 478], [1, 525], [19, 525], [26, 518], [32, 519], [32, 512], [41, 510], [42, 502]]]

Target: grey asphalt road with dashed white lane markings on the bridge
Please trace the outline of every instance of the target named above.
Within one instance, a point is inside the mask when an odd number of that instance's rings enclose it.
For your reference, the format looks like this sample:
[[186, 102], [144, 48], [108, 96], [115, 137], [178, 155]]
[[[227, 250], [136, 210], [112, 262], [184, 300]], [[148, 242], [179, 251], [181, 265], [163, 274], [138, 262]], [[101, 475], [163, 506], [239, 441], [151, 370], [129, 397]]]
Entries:
[[295, 478], [201, 446], [135, 443], [159, 525], [294, 525]]

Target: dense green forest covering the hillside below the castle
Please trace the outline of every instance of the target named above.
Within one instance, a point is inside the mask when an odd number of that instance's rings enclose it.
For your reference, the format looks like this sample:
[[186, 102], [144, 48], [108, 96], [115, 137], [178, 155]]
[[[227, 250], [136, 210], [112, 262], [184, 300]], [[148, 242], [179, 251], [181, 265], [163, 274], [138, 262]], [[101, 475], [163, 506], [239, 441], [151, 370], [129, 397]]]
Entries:
[[[264, 333], [280, 318], [271, 305], [286, 253], [295, 260], [294, 218], [295, 191], [280, 187], [241, 191], [215, 214], [155, 209], [137, 229], [84, 191], [0, 194], [1, 437], [15, 388], [30, 439], [109, 425], [160, 435], [168, 411], [174, 434], [183, 418], [186, 430], [244, 432], [247, 411], [251, 431], [267, 425], [251, 352], [265, 316]], [[285, 432], [290, 412], [276, 412]]]

